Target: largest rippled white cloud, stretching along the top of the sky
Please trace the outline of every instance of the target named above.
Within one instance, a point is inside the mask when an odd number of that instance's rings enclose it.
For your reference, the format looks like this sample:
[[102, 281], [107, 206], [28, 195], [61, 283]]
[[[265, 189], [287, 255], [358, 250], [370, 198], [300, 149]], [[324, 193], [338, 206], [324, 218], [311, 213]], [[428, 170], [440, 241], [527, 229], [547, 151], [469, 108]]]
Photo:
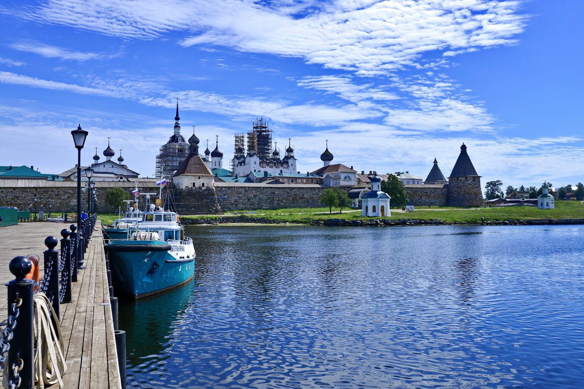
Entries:
[[[267, 6], [251, 0], [45, 0], [15, 15], [102, 34], [151, 39], [189, 31], [181, 44], [230, 46], [302, 57], [310, 64], [376, 75], [402, 66], [433, 66], [446, 55], [513, 44], [523, 30], [520, 1], [342, 0]], [[304, 12], [310, 9], [310, 12]], [[196, 31], [192, 33], [191, 31]], [[442, 62], [444, 64], [444, 62]]]

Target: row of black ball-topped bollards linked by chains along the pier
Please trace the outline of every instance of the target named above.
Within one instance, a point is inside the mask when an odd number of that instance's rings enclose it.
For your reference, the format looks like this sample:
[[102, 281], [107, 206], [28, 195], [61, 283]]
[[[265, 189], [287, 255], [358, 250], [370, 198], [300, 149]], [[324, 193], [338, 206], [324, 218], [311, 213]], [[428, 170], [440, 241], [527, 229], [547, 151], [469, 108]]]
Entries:
[[[84, 253], [97, 221], [93, 214], [81, 220], [79, 226], [72, 224], [61, 230], [59, 240], [48, 236], [44, 240], [47, 250], [43, 253], [44, 275], [39, 279], [39, 261], [33, 255], [15, 257], [10, 262], [10, 271], [15, 279], [8, 282], [8, 320], [0, 339], [0, 366], [4, 366], [4, 386], [9, 389], [32, 389], [36, 377], [45, 377], [46, 372], [36, 372], [34, 348], [34, 296], [46, 295], [50, 307], [54, 333], [58, 331], [60, 304], [71, 302], [71, 282], [77, 282], [79, 270], [84, 269]], [[116, 313], [117, 315], [117, 313]], [[56, 320], [55, 320], [56, 319]], [[56, 341], [53, 339], [49, 342]], [[40, 378], [43, 379], [43, 378]]]

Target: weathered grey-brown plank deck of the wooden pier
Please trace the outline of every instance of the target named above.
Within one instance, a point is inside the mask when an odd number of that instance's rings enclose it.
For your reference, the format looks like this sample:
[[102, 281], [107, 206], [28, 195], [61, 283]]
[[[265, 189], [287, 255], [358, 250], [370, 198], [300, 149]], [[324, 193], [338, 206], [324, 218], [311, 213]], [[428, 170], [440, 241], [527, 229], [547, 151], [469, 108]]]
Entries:
[[[14, 276], [8, 270], [13, 257], [36, 253], [41, 258], [43, 275], [43, 242], [71, 223], [34, 222], [0, 228], [0, 282]], [[57, 246], [58, 248], [58, 246]], [[112, 310], [101, 223], [97, 222], [85, 253], [85, 269], [79, 270], [78, 281], [72, 283], [72, 302], [61, 304], [61, 331], [65, 344], [67, 373], [65, 389], [121, 389]], [[8, 303], [6, 287], [0, 286], [0, 320], [6, 324]], [[51, 389], [58, 385], [51, 386]]]

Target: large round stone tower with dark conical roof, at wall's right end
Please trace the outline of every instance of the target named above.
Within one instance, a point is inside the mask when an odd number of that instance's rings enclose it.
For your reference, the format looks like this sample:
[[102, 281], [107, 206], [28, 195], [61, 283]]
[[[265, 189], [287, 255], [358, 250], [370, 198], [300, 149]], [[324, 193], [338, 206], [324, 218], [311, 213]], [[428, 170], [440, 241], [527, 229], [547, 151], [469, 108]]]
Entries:
[[460, 146], [460, 155], [448, 177], [448, 205], [482, 206], [481, 176], [477, 174], [467, 153], [467, 146]]

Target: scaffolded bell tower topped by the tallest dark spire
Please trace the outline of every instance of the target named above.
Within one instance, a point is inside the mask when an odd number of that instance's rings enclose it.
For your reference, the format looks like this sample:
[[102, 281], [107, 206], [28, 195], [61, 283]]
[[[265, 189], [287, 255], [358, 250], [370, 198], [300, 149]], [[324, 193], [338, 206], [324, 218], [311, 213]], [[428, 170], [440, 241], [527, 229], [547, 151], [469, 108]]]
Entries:
[[[189, 155], [189, 143], [180, 135], [179, 121], [179, 104], [176, 103], [174, 134], [168, 139], [168, 142], [160, 147], [156, 156], [156, 178], [171, 177]], [[196, 143], [199, 143], [198, 138]]]

